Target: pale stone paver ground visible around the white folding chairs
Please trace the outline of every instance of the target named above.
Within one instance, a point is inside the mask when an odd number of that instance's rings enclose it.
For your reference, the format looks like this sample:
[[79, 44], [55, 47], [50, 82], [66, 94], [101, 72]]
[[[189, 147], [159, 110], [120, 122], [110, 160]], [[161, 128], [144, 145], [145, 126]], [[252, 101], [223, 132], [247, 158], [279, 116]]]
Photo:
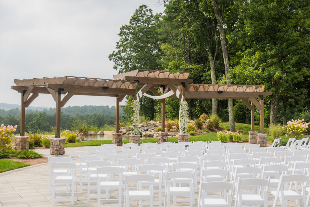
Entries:
[[[39, 149], [35, 151], [44, 156], [51, 156], [49, 149]], [[69, 151], [86, 151], [86, 147], [67, 147], [65, 148], [65, 155], [63, 156], [68, 157]], [[47, 163], [0, 173], [0, 206], [48, 207], [70, 205], [70, 202], [56, 202], [56, 205], [51, 205], [52, 196], [48, 194], [48, 174]], [[87, 201], [86, 190], [83, 190], [78, 196], [79, 200], [77, 201], [75, 198], [74, 206], [97, 206], [96, 199], [91, 199], [90, 202]], [[198, 193], [195, 193], [195, 198], [197, 204]], [[131, 201], [130, 204], [131, 206], [138, 206], [135, 201]], [[291, 207], [296, 206], [295, 202], [288, 202], [288, 204]], [[188, 205], [188, 203], [178, 203], [177, 205], [185, 206]]]

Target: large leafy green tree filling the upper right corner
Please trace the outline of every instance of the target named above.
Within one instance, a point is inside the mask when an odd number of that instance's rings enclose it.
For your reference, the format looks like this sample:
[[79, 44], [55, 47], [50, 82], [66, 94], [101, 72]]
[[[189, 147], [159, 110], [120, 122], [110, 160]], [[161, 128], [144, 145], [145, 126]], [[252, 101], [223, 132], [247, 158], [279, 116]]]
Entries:
[[240, 9], [240, 29], [234, 35], [246, 37], [238, 40], [245, 50], [232, 74], [239, 82], [264, 84], [272, 91], [270, 124], [277, 122], [279, 101], [285, 123], [289, 100], [309, 75], [309, 3], [253, 0], [242, 2]]

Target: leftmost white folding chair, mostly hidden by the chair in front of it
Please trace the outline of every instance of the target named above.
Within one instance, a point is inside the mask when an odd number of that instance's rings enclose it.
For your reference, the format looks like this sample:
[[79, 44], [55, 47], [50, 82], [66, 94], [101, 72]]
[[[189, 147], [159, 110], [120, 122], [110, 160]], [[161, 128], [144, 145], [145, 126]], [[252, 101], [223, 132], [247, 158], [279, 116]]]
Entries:
[[[49, 195], [52, 194], [52, 177], [53, 177], [53, 171], [51, 168], [51, 163], [56, 163], [56, 162], [73, 162], [70, 157], [48, 157], [48, 171], [49, 171]], [[54, 169], [54, 173], [56, 176], [58, 175], [67, 175], [69, 172], [67, 169]], [[68, 191], [68, 186], [66, 185]], [[63, 190], [61, 190], [63, 191]]]

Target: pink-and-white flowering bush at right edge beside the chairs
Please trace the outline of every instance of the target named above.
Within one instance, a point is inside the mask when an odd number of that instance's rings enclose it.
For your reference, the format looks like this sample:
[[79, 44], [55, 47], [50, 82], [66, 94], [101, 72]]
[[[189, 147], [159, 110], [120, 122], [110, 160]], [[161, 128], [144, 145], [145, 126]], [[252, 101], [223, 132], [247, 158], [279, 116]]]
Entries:
[[297, 140], [301, 139], [308, 129], [310, 123], [303, 122], [303, 119], [292, 119], [282, 127], [286, 133], [286, 137], [295, 137]]

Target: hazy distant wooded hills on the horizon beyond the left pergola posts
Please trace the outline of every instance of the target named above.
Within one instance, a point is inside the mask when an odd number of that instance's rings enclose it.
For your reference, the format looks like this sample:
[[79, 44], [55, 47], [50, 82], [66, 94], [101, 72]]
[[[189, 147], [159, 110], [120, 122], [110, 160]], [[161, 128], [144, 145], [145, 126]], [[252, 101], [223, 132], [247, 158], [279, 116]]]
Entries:
[[[61, 108], [61, 112], [64, 115], [75, 116], [75, 115], [90, 115], [90, 114], [100, 114], [104, 116], [115, 116], [115, 106], [68, 106]], [[47, 108], [41, 106], [32, 106], [26, 108], [26, 113], [36, 113], [44, 111], [48, 115], [54, 115], [55, 108]], [[0, 116], [13, 115], [15, 117], [20, 117], [20, 105], [18, 104], [6, 104], [0, 103]], [[120, 115], [123, 115], [123, 110], [120, 108]]]

